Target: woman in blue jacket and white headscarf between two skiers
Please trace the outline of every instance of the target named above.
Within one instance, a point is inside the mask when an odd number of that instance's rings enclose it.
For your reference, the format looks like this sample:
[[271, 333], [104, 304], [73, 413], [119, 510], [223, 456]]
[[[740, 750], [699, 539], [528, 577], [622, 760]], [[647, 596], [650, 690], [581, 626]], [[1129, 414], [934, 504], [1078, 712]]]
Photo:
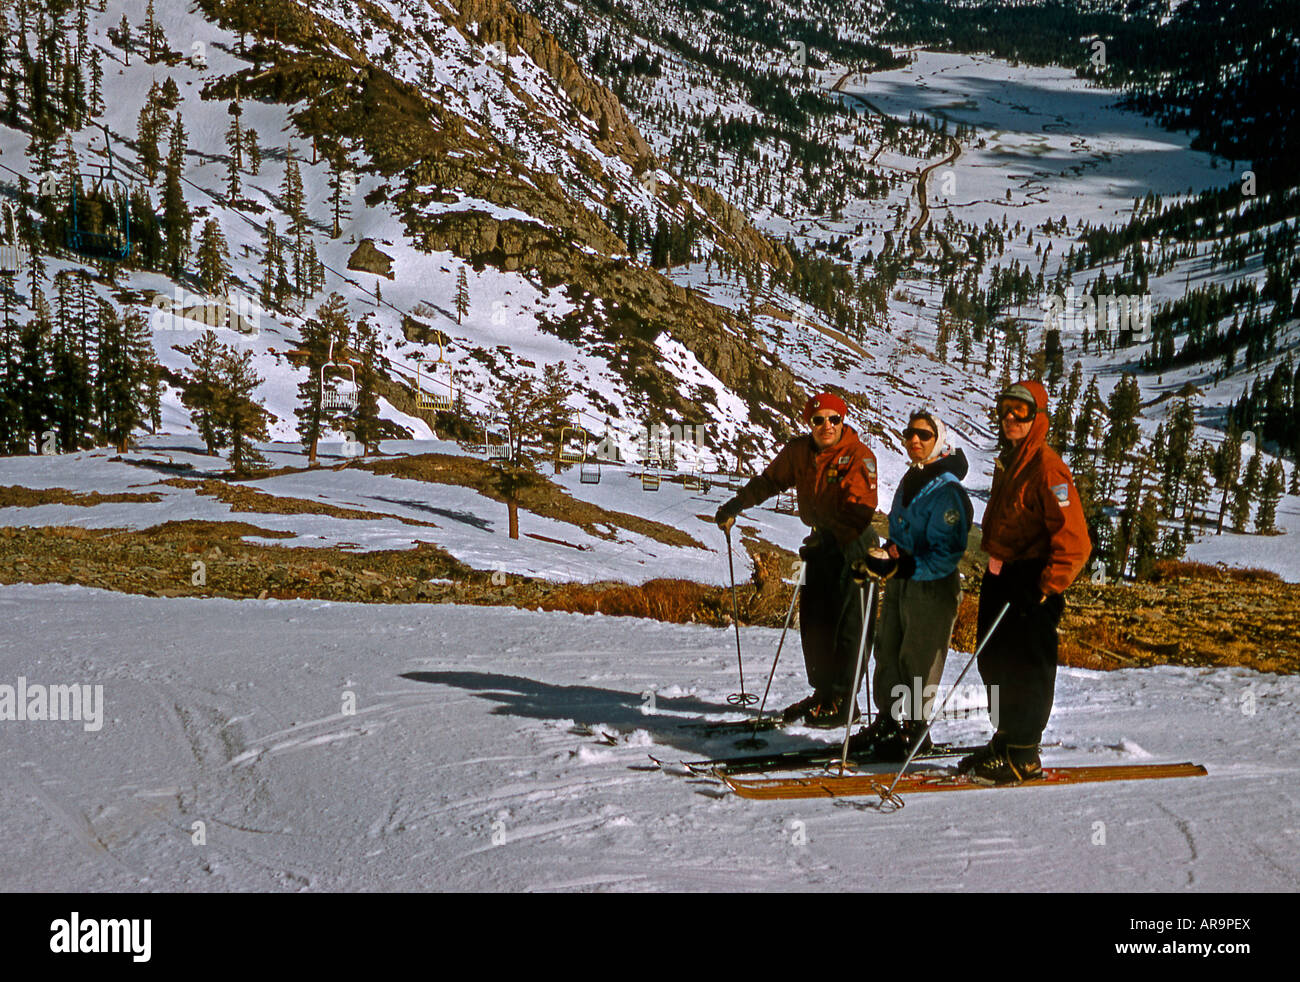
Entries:
[[872, 676], [878, 715], [849, 747], [881, 761], [905, 760], [933, 711], [962, 598], [957, 563], [974, 519], [961, 483], [966, 455], [948, 446], [939, 416], [911, 414], [902, 437], [911, 464], [894, 490], [889, 538], [855, 564], [858, 575], [887, 583]]

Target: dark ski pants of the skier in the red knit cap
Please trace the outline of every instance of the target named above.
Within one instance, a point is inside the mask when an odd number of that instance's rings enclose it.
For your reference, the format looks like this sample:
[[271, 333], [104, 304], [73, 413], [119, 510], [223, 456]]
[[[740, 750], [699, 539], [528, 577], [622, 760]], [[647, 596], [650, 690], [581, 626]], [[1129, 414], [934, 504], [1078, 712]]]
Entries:
[[800, 593], [800, 639], [809, 684], [814, 692], [846, 693], [862, 637], [862, 593], [829, 533], [800, 549], [800, 557], [806, 576]]

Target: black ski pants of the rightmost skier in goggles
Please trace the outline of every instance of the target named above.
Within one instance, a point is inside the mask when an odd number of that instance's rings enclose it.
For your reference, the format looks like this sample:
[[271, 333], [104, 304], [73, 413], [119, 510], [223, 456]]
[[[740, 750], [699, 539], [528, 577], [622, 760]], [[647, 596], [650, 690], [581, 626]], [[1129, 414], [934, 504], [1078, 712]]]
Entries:
[[[1037, 589], [1041, 562], [1005, 563], [997, 576], [985, 572], [979, 592], [979, 636], [988, 633], [1008, 601], [1010, 610], [979, 656], [993, 727], [1014, 747], [1037, 747], [1052, 715], [1056, 695], [1057, 624], [1065, 610], [1060, 594], [1030, 605]], [[996, 713], [994, 713], [996, 706]]]

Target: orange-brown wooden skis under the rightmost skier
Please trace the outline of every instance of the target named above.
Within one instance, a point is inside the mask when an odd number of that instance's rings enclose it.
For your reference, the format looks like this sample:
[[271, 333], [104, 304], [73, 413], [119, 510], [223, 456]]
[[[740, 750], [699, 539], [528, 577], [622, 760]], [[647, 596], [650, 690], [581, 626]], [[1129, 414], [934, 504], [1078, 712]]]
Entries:
[[[894, 787], [896, 795], [922, 791], [972, 791], [993, 788], [1035, 788], [1053, 784], [1084, 784], [1097, 780], [1147, 780], [1152, 778], [1199, 778], [1206, 774], [1200, 763], [1121, 763], [1098, 767], [1044, 767], [1043, 776], [1022, 784], [979, 784], [966, 775], [949, 770], [916, 770], [904, 774]], [[894, 774], [826, 775], [815, 778], [774, 778], [742, 780], [719, 775], [727, 787], [741, 797], [849, 797], [879, 795], [894, 779]]]

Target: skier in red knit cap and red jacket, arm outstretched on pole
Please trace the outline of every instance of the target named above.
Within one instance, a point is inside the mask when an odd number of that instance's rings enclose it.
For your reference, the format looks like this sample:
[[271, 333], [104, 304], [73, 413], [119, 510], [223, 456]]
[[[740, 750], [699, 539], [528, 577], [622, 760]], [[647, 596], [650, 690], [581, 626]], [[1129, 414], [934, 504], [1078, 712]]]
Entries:
[[[786, 444], [767, 470], [718, 509], [715, 519], [720, 528], [729, 528], [745, 509], [796, 489], [800, 519], [812, 528], [800, 549], [805, 571], [800, 636], [812, 695], [789, 706], [785, 719], [805, 719], [810, 726], [846, 721], [845, 700], [862, 635], [859, 591], [849, 566], [878, 541], [871, 532], [876, 458], [844, 423], [846, 414], [844, 399], [833, 393], [809, 399], [803, 420], [811, 433]], [[853, 701], [857, 719], [857, 698]]]

